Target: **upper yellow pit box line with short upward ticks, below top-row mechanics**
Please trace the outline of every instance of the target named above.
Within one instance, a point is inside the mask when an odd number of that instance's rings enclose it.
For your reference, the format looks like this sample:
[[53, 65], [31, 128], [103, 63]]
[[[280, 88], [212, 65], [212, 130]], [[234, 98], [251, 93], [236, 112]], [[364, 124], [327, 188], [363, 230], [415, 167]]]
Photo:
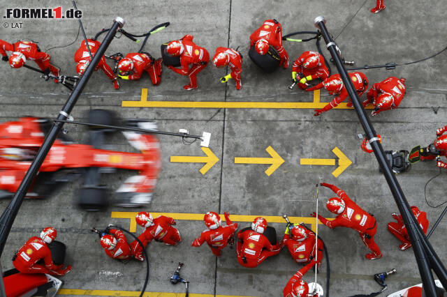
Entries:
[[[335, 109], [353, 109], [340, 103]], [[320, 90], [314, 91], [313, 102], [223, 102], [223, 101], [148, 101], [147, 89], [141, 90], [140, 101], [122, 101], [122, 107], [167, 107], [167, 108], [269, 108], [269, 109], [319, 109], [328, 105], [320, 102]], [[371, 106], [366, 107], [372, 109]]]

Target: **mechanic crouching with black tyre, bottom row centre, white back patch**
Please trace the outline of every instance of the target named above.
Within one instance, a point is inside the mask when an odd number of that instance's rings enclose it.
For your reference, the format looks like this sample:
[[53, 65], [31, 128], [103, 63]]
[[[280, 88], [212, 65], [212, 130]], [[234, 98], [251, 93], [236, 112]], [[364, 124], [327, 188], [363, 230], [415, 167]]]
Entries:
[[267, 257], [281, 252], [282, 245], [272, 245], [263, 235], [267, 228], [265, 218], [255, 218], [251, 223], [251, 230], [237, 233], [237, 261], [244, 267], [254, 268], [261, 264]]

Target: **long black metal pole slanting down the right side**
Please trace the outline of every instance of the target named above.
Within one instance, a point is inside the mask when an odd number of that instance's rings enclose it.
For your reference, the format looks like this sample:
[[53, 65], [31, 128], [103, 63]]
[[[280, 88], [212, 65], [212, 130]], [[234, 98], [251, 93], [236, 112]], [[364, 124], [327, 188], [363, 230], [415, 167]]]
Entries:
[[[363, 109], [363, 106], [358, 99], [356, 89], [354, 88], [353, 83], [351, 82], [351, 79], [349, 78], [349, 75], [343, 66], [342, 59], [339, 56], [339, 49], [334, 40], [332, 40], [330, 33], [325, 26], [325, 18], [316, 17], [314, 23], [318, 27], [318, 29], [320, 29], [325, 40], [326, 47], [328, 48], [332, 59], [334, 59], [335, 61], [337, 70], [339, 71], [339, 75], [343, 80], [344, 87], [349, 93], [353, 107], [356, 109], [358, 119], [362, 124], [363, 130], [365, 130], [365, 134], [369, 140], [369, 144], [371, 144], [374, 155], [376, 156], [376, 159], [379, 162], [379, 166], [381, 167], [381, 170], [383, 172], [383, 176], [385, 176], [386, 178], [388, 186], [396, 201], [397, 207], [399, 208], [399, 211], [402, 215], [402, 219], [404, 220], [406, 230], [408, 231], [411, 244], [413, 245], [413, 252], [416, 257], [416, 262], [418, 264], [420, 278], [423, 282], [423, 289], [425, 291], [425, 294], [426, 296], [436, 296], [436, 286], [434, 284], [430, 261], [427, 259], [427, 253], [425, 252], [425, 248], [422, 243], [422, 241], [425, 240], [425, 237], [421, 238], [420, 234], [418, 234], [418, 229], [420, 229], [420, 227], [418, 224], [415, 223], [416, 218], [414, 218], [413, 213], [410, 210], [408, 201], [406, 201], [406, 198], [404, 196], [404, 192], [400, 188], [395, 175], [388, 165], [388, 161], [386, 160], [385, 153], [383, 153], [383, 148], [379, 142], [379, 139], [377, 138], [374, 127], [369, 122], [365, 109]], [[438, 267], [438, 270], [442, 270], [442, 268]]]

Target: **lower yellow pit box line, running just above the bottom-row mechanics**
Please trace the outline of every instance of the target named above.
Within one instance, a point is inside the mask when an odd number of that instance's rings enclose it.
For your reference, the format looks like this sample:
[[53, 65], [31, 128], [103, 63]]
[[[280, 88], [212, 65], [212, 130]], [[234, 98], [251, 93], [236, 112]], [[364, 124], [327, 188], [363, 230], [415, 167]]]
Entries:
[[[158, 217], [159, 215], [164, 215], [166, 217], [173, 218], [174, 220], [193, 220], [193, 221], [203, 221], [203, 215], [205, 213], [153, 213], [151, 211], [151, 214], [154, 218]], [[112, 211], [112, 214], [110, 215], [111, 218], [117, 218], [117, 219], [130, 219], [131, 224], [129, 227], [129, 231], [135, 232], [137, 231], [137, 224], [135, 222], [135, 215], [138, 215], [138, 212], [131, 212], [131, 211]], [[223, 217], [223, 214], [221, 214], [221, 217]], [[269, 223], [285, 223], [286, 221], [282, 216], [278, 215], [230, 215], [230, 219], [235, 222], [253, 222], [255, 218], [263, 217], [267, 222]], [[327, 218], [328, 220], [334, 220], [333, 218]], [[293, 223], [300, 223], [303, 222], [305, 224], [310, 224], [312, 226], [312, 230], [315, 230], [315, 218], [312, 217], [288, 217], [288, 220], [290, 220]], [[318, 221], [318, 224], [321, 224], [320, 221]]]

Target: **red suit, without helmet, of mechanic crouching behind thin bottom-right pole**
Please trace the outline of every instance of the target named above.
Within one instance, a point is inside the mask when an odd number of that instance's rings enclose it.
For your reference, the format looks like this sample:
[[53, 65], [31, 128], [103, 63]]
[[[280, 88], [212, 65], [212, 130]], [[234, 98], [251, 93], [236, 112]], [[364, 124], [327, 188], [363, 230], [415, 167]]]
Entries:
[[[296, 241], [290, 234], [284, 234], [282, 244], [288, 248], [295, 262], [307, 264], [315, 259], [315, 234], [311, 230], [305, 230], [307, 237], [304, 241]], [[323, 242], [320, 239], [318, 239], [317, 249], [316, 260], [320, 264], [323, 259]]]

